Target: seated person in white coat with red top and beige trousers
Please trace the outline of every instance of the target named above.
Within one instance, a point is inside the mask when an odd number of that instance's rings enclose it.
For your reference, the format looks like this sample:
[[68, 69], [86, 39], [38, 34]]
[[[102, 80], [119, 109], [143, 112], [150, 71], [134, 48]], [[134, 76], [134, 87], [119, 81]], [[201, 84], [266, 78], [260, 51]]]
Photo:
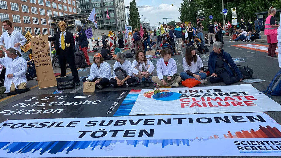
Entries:
[[157, 83], [157, 86], [172, 86], [178, 87], [181, 82], [181, 77], [177, 73], [176, 61], [171, 58], [172, 50], [165, 48], [161, 51], [163, 58], [158, 59], [156, 64], [157, 76], [152, 77], [152, 81]]

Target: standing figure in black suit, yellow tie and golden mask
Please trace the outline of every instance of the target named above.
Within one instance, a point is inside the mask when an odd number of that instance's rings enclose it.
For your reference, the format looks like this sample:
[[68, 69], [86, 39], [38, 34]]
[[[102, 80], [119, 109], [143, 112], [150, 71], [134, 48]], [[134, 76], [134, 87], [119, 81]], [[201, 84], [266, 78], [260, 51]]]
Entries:
[[[73, 34], [65, 30], [66, 23], [64, 21], [60, 21], [58, 23], [58, 27], [60, 32], [57, 32], [53, 37], [49, 37], [49, 41], [55, 41], [55, 50], [56, 54], [59, 55], [59, 63], [60, 63], [60, 76], [65, 76], [66, 74], [66, 62], [69, 64], [69, 67], [72, 72], [72, 76], [74, 76], [74, 82], [76, 86], [80, 85], [78, 71], [75, 65], [74, 51], [73, 47], [75, 46]], [[38, 35], [39, 37], [39, 35]]]

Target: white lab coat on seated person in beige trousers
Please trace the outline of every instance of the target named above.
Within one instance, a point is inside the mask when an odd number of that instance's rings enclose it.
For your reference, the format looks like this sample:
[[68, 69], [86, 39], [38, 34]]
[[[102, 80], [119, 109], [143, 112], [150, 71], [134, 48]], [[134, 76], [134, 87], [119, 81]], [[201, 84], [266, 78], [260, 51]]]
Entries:
[[167, 66], [164, 63], [164, 58], [158, 59], [156, 71], [159, 80], [163, 79], [163, 75], [172, 77], [175, 73], [177, 73], [177, 64], [175, 59], [170, 58]]

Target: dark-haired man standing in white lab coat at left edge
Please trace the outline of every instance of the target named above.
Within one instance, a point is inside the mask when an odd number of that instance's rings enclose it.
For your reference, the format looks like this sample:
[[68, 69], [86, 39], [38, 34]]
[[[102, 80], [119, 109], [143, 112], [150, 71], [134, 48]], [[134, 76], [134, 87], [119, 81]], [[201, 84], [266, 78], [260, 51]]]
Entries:
[[6, 50], [9, 48], [14, 48], [21, 53], [20, 46], [27, 42], [26, 38], [20, 32], [13, 29], [13, 24], [10, 20], [3, 21], [3, 28], [7, 31], [3, 32], [0, 37], [0, 47], [5, 52], [5, 55], [7, 56]]

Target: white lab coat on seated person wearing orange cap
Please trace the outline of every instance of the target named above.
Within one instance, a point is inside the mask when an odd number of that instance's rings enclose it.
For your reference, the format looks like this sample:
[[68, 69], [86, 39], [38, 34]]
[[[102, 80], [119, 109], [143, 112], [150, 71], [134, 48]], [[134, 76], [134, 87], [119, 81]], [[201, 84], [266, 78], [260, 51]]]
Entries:
[[98, 68], [96, 63], [93, 63], [90, 69], [90, 76], [87, 80], [94, 80], [95, 78], [111, 78], [111, 67], [107, 62], [100, 63], [100, 68]]

